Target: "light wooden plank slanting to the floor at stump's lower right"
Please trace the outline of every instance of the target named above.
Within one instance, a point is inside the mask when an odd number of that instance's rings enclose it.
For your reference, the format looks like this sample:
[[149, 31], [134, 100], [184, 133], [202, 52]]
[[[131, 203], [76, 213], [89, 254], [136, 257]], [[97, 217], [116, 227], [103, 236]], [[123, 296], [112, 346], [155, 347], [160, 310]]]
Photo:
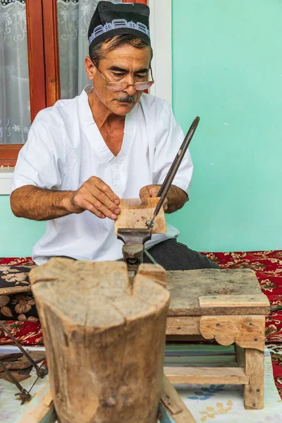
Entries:
[[163, 405], [164, 410], [171, 415], [174, 422], [196, 423], [194, 417], [192, 417], [192, 414], [177, 393], [176, 388], [174, 388], [165, 375], [163, 381], [163, 391], [161, 393], [161, 405]]

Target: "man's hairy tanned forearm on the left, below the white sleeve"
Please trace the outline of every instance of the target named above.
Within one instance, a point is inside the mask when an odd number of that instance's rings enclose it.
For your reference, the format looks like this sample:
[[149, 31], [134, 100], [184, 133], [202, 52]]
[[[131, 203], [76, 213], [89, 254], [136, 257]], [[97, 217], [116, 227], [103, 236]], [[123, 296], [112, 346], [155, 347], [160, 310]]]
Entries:
[[72, 191], [44, 190], [25, 185], [11, 193], [11, 209], [17, 217], [37, 221], [56, 219], [71, 213], [68, 203], [72, 195]]

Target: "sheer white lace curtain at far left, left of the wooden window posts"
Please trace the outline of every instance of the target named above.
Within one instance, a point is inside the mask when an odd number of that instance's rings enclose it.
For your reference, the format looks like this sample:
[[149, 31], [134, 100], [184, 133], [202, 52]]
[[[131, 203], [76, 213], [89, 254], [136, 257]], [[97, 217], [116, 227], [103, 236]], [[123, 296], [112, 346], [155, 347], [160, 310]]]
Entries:
[[25, 0], [0, 0], [0, 144], [23, 144], [29, 128]]

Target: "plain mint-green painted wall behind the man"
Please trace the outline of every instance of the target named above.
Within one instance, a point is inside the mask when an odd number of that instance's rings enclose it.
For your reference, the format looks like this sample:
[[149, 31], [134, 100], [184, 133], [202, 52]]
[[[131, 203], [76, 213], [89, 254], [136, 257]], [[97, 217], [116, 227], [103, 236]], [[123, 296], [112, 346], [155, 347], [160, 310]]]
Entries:
[[[173, 109], [196, 115], [191, 200], [168, 216], [197, 250], [282, 249], [282, 2], [172, 0]], [[30, 255], [44, 222], [0, 196], [0, 257]]]

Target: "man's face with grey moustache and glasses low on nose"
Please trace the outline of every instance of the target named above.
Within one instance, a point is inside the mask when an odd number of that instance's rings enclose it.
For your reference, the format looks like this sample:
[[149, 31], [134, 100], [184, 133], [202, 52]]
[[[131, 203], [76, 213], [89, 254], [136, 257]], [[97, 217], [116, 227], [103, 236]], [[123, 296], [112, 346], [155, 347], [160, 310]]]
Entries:
[[[105, 47], [104, 47], [105, 48]], [[133, 84], [149, 80], [151, 49], [137, 49], [125, 44], [113, 51], [105, 52], [99, 61], [99, 70], [108, 82], [127, 82], [129, 85], [121, 91], [112, 91], [98, 69], [88, 61], [87, 74], [93, 81], [93, 90], [99, 100], [112, 113], [125, 116], [141, 97], [142, 91], [136, 91]]]

